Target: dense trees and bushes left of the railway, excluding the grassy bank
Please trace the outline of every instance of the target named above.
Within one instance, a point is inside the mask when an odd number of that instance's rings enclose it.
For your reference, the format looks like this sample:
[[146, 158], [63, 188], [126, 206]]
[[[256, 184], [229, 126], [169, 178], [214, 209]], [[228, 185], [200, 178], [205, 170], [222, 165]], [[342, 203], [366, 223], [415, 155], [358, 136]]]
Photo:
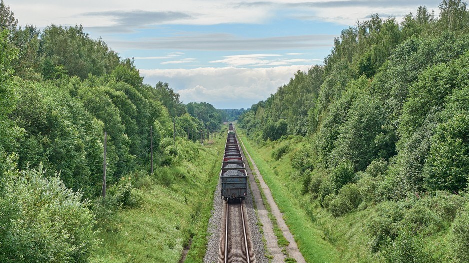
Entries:
[[[3, 1], [0, 17], [0, 262], [87, 262], [93, 214], [102, 222], [139, 203], [122, 178], [149, 173], [151, 128], [155, 166], [171, 170], [198, 156], [187, 138], [219, 129], [221, 114], [143, 84], [132, 60], [81, 26], [18, 27]], [[165, 174], [150, 182], [171, 184]]]

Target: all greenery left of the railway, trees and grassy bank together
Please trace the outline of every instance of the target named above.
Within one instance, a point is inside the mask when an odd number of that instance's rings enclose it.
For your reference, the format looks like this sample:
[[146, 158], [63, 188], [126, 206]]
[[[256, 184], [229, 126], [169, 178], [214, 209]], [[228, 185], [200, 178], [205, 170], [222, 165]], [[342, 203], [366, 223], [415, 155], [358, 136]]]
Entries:
[[3, 1], [0, 17], [0, 262], [174, 262], [190, 239], [200, 262], [222, 143], [197, 141], [221, 113], [143, 84], [82, 26], [18, 27]]

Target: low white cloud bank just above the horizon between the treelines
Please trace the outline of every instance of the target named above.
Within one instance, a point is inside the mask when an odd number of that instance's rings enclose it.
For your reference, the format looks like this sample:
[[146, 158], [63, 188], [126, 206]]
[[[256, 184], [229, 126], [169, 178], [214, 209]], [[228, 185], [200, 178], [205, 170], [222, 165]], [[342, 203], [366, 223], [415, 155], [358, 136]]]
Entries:
[[248, 108], [288, 83], [296, 71], [310, 67], [141, 69], [140, 73], [150, 85], [168, 82], [184, 103], [206, 101], [222, 109]]

